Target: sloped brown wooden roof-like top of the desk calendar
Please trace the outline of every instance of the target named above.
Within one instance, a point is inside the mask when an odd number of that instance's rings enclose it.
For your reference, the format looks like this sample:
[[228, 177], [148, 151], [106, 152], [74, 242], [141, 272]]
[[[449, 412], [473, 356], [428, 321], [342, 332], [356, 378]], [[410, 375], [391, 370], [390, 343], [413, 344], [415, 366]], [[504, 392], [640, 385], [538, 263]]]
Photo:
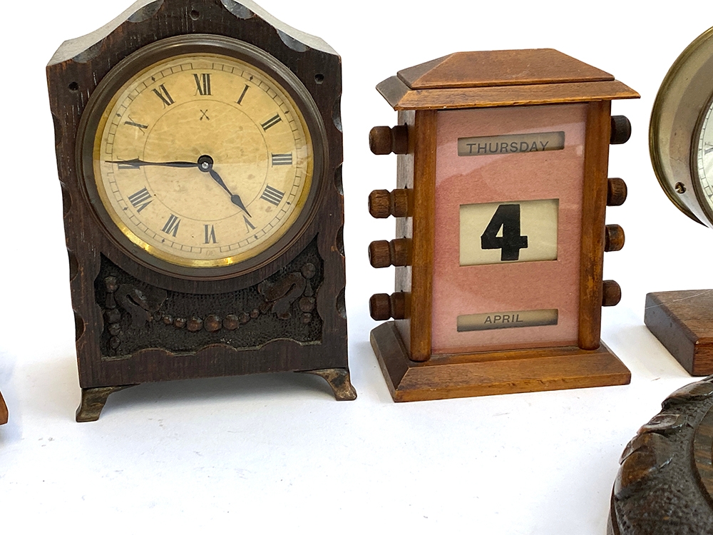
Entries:
[[395, 110], [639, 98], [610, 73], [553, 49], [458, 52], [405, 68], [376, 90]]

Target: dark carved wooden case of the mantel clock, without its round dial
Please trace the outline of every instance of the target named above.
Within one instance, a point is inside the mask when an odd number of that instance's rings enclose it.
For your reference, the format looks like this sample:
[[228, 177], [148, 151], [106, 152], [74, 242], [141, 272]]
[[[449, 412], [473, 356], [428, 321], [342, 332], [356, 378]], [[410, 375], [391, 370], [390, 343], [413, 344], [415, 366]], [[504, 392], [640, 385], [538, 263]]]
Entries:
[[[322, 187], [301, 231], [250, 272], [207, 280], [172, 275], [120, 246], [101, 224], [81, 176], [81, 120], [98, 84], [154, 41], [194, 34], [237, 39], [282, 63], [307, 88], [325, 136], [322, 175], [314, 176]], [[119, 389], [195, 377], [310, 372], [324, 377], [337, 399], [354, 399], [344, 303], [339, 55], [250, 0], [140, 0], [93, 34], [66, 41], [47, 77], [82, 388], [77, 421], [98, 419]]]

